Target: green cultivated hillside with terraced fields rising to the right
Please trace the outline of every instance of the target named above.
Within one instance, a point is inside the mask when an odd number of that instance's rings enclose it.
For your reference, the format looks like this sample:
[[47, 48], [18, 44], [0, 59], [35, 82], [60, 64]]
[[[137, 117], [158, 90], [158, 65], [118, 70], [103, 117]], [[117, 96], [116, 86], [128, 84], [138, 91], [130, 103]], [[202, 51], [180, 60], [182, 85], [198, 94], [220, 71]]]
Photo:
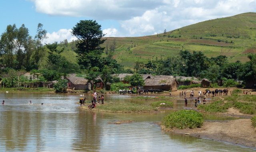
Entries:
[[[199, 22], [166, 35], [106, 39], [103, 47], [116, 41], [114, 58], [126, 68], [133, 68], [135, 61], [147, 63], [156, 57], [175, 56], [180, 50], [202, 51], [207, 57], [226, 55], [230, 62], [245, 62], [247, 53], [256, 53], [256, 13]], [[73, 50], [72, 43], [67, 50]], [[68, 53], [72, 62], [73, 54]]]

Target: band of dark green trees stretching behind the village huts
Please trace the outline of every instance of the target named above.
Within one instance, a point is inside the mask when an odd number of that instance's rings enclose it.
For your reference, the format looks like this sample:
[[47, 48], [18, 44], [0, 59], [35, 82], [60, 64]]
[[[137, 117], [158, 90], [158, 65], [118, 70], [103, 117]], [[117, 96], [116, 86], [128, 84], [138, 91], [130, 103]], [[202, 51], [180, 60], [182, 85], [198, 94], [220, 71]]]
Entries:
[[[206, 57], [201, 51], [180, 51], [179, 55], [165, 59], [152, 59], [144, 64], [136, 61], [134, 71], [124, 67], [113, 59], [116, 41], [106, 48], [101, 44], [106, 40], [101, 26], [94, 20], [81, 20], [72, 28], [72, 35], [78, 40], [74, 51], [77, 63], [70, 63], [61, 55], [64, 47], [57, 42], [43, 44], [47, 38], [47, 31], [42, 24], [38, 24], [36, 36], [32, 38], [29, 30], [22, 24], [8, 25], [0, 39], [0, 73], [1, 77], [10, 79], [10, 75], [16, 75], [19, 79], [21, 73], [30, 71], [38, 75], [40, 81], [53, 81], [66, 76], [68, 73], [81, 73], [92, 85], [100, 76], [105, 83], [113, 83], [118, 79], [112, 77], [114, 73], [138, 73], [153, 75], [174, 75], [196, 78], [207, 78], [212, 83], [227, 80], [255, 81], [256, 79], [256, 55], [249, 54], [250, 61], [241, 63], [236, 61], [229, 63], [224, 55]], [[62, 44], [67, 45], [67, 40]], [[103, 53], [106, 57], [103, 57]], [[42, 60], [48, 64], [42, 66]], [[16, 71], [16, 72], [15, 72]], [[23, 72], [21, 72], [23, 71]], [[6, 80], [10, 83], [11, 80]], [[20, 81], [20, 80], [19, 80]], [[9, 87], [13, 85], [8, 85]]]

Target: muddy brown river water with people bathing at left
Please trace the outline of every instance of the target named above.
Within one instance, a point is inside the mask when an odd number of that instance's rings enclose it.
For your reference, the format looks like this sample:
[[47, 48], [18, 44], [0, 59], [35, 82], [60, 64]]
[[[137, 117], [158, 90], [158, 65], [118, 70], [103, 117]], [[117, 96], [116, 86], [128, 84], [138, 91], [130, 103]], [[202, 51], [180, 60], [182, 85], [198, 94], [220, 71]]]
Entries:
[[[88, 98], [87, 104], [92, 97]], [[137, 95], [104, 95], [105, 102], [138, 102]], [[172, 100], [173, 110], [152, 114], [100, 113], [78, 105], [77, 94], [0, 93], [0, 152], [250, 152], [224, 142], [163, 132], [157, 124], [183, 109], [184, 100]], [[168, 99], [169, 97], [166, 97]], [[29, 101], [32, 104], [29, 104]], [[2, 103], [2, 102], [1, 102]], [[43, 103], [43, 105], [41, 105]], [[146, 103], [145, 103], [146, 104]], [[194, 108], [188, 100], [188, 107]], [[205, 116], [206, 120], [231, 117]], [[113, 124], [120, 120], [131, 123]]]

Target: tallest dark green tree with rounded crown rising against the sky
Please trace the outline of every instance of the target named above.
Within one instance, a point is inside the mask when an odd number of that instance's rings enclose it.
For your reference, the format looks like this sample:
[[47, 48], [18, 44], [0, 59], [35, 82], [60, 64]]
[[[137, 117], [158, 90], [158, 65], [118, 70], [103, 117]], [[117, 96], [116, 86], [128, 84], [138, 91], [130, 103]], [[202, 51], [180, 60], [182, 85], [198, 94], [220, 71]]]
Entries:
[[91, 67], [101, 67], [101, 55], [104, 48], [100, 44], [106, 39], [102, 39], [105, 34], [102, 33], [101, 25], [95, 20], [80, 20], [72, 29], [72, 35], [78, 38], [79, 42], [76, 45], [75, 52], [78, 57], [78, 64], [82, 65], [83, 69]]

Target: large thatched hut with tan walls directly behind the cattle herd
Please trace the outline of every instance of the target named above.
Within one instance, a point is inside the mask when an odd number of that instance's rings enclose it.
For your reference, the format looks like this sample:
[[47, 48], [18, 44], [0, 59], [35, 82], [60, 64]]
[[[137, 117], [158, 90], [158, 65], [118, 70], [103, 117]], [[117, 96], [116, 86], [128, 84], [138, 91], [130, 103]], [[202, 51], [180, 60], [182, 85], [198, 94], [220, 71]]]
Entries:
[[163, 91], [176, 91], [177, 87], [178, 82], [171, 75], [148, 75], [144, 85], [144, 89], [162, 89]]

